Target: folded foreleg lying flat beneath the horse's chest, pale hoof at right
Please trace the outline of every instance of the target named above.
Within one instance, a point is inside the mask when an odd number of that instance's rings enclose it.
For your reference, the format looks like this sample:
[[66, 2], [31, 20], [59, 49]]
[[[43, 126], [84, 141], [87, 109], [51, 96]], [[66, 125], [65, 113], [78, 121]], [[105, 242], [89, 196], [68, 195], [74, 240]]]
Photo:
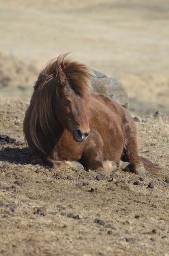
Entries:
[[40, 157], [39, 155], [33, 155], [30, 159], [31, 164], [36, 165], [39, 164], [41, 166], [49, 166], [51, 168], [76, 168], [76, 169], [84, 169], [82, 164], [75, 161], [56, 161], [52, 159], [48, 159], [46, 157]]

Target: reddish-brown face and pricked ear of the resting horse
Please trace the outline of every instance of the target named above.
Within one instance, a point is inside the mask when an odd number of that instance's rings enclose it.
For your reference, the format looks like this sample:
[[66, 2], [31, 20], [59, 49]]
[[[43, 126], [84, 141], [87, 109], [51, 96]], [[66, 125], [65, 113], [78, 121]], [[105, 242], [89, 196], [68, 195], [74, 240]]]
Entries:
[[58, 120], [63, 128], [72, 133], [75, 141], [85, 141], [90, 133], [87, 117], [89, 96], [80, 94], [71, 84], [71, 79], [60, 69], [57, 70], [57, 77], [60, 102], [57, 110]]

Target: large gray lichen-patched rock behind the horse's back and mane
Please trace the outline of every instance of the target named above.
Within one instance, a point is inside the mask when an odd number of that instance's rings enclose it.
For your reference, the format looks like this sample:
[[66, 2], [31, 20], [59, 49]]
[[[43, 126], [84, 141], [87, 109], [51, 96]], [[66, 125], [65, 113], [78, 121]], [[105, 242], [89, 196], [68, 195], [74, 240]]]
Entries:
[[96, 76], [96, 79], [92, 79], [91, 82], [93, 90], [127, 108], [128, 95], [123, 85], [115, 78], [108, 78], [104, 74], [95, 70], [93, 70], [93, 73]]

